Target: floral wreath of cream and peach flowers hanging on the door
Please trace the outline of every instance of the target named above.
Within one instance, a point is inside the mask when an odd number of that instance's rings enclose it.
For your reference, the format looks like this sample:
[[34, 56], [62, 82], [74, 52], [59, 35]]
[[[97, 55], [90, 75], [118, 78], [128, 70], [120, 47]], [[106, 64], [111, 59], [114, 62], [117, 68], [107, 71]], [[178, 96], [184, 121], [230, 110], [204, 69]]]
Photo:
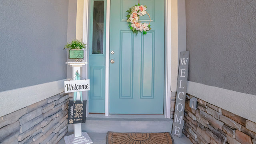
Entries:
[[[143, 34], [147, 34], [147, 31], [151, 30], [150, 28], [150, 22], [151, 22], [151, 18], [150, 15], [148, 14], [148, 12], [146, 12], [147, 6], [143, 6], [143, 5], [135, 5], [132, 8], [129, 8], [129, 10], [127, 10], [126, 12], [128, 12], [127, 17], [127, 22], [129, 23], [129, 28], [132, 30], [132, 32], [136, 33], [136, 35], [138, 34], [138, 31], [142, 32]], [[142, 24], [139, 19], [140, 16], [144, 16], [145, 14], [148, 14], [149, 16], [149, 24], [147, 24], [146, 22], [144, 22], [144, 24]], [[139, 15], [139, 16], [138, 16]]]

